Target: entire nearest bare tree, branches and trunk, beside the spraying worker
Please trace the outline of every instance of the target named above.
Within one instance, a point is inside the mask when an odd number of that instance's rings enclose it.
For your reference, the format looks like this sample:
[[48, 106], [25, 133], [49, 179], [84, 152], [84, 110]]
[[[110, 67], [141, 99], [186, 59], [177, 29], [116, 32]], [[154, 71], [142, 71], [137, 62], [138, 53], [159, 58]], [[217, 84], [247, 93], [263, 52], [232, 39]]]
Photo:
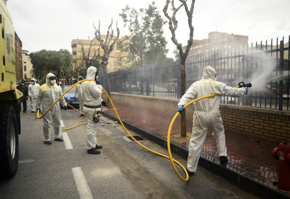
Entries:
[[[191, 0], [190, 10], [186, 4], [186, 0], [179, 0], [179, 1], [181, 2], [181, 4], [177, 8], [175, 8], [175, 6], [174, 6], [174, 0], [171, 1], [171, 6], [172, 6], [172, 10], [173, 10], [172, 17], [170, 17], [167, 13], [170, 0], [166, 0], [166, 4], [163, 8], [163, 12], [164, 12], [164, 15], [167, 17], [167, 19], [169, 19], [168, 24], [169, 24], [169, 29], [170, 29], [171, 34], [172, 34], [171, 40], [176, 45], [176, 47], [179, 51], [179, 54], [180, 54], [180, 71], [181, 71], [180, 98], [181, 98], [185, 93], [185, 80], [186, 80], [185, 61], [186, 61], [187, 55], [189, 53], [189, 49], [190, 49], [192, 42], [193, 42], [193, 30], [194, 30], [194, 28], [192, 26], [192, 13], [193, 13], [195, 0]], [[182, 51], [182, 44], [178, 43], [176, 40], [176, 37], [175, 37], [175, 31], [177, 29], [177, 23], [178, 23], [176, 18], [175, 18], [175, 15], [176, 15], [176, 12], [182, 6], [184, 6], [186, 15], [188, 17], [188, 26], [190, 29], [189, 40], [187, 40], [187, 46], [186, 46], [185, 52]], [[185, 112], [185, 110], [181, 114], [181, 137], [186, 137], [186, 112]]]

